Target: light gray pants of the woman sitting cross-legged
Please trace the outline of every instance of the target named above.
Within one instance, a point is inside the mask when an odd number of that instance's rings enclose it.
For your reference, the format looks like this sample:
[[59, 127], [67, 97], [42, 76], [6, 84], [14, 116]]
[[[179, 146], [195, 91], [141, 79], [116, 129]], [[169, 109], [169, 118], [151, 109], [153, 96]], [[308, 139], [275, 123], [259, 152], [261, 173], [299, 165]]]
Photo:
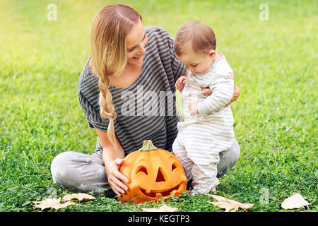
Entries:
[[[232, 168], [240, 157], [240, 146], [235, 141], [232, 147], [220, 153], [217, 177], [222, 177]], [[106, 196], [114, 196], [110, 184], [107, 182], [102, 152], [98, 151], [92, 155], [67, 151], [60, 153], [51, 165], [51, 173], [54, 184], [61, 189], [73, 189], [74, 191], [94, 191]]]

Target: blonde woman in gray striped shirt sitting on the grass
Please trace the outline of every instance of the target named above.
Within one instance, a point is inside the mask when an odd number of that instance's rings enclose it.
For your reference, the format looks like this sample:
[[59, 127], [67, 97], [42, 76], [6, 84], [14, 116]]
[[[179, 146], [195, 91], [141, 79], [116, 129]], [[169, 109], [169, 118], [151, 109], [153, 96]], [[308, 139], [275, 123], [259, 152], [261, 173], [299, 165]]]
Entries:
[[[51, 165], [63, 189], [124, 194], [128, 179], [119, 173], [124, 156], [151, 140], [172, 151], [180, 120], [175, 81], [187, 69], [175, 57], [173, 38], [163, 28], [144, 28], [129, 6], [108, 5], [95, 16], [90, 34], [91, 57], [78, 81], [78, 98], [88, 125], [98, 133], [93, 155], [66, 152]], [[204, 89], [206, 95], [211, 90]], [[234, 101], [240, 94], [235, 86]], [[239, 147], [221, 153], [218, 175], [238, 160]]]

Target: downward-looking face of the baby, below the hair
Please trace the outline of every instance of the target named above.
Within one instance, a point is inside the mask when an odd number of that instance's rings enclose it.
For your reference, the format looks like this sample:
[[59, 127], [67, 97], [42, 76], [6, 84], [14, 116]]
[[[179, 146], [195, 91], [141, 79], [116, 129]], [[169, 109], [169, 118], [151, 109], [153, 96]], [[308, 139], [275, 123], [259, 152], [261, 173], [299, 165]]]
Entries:
[[213, 63], [209, 54], [197, 53], [192, 50], [185, 51], [181, 56], [177, 56], [177, 59], [192, 73], [204, 73], [208, 71]]

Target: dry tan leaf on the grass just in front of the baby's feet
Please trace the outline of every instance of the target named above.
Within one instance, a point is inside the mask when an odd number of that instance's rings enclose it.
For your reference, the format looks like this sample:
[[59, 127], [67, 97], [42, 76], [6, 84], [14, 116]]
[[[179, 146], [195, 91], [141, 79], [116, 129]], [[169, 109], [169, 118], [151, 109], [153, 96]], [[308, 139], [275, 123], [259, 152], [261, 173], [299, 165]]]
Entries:
[[216, 196], [216, 195], [210, 195], [210, 194], [207, 194], [207, 195], [213, 198], [216, 198], [216, 200], [218, 200], [218, 202], [207, 202], [207, 203], [211, 203], [214, 206], [217, 206], [218, 208], [223, 208], [225, 209], [225, 212], [229, 212], [230, 210], [231, 212], [236, 212], [238, 208], [242, 208], [243, 210], [247, 211], [248, 208], [251, 208], [253, 206], [253, 204], [240, 203], [232, 199], [224, 198], [222, 196]]

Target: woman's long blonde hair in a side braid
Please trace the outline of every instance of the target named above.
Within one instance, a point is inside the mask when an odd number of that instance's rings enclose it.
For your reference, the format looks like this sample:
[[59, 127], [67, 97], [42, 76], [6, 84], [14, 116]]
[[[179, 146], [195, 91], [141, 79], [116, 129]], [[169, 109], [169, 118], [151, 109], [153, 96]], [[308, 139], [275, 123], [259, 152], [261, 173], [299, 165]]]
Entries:
[[107, 136], [115, 148], [114, 119], [117, 114], [112, 105], [108, 78], [117, 77], [124, 71], [127, 64], [126, 36], [139, 19], [139, 13], [129, 6], [107, 5], [95, 15], [90, 32], [90, 59], [95, 75], [100, 78], [100, 116], [110, 119]]

